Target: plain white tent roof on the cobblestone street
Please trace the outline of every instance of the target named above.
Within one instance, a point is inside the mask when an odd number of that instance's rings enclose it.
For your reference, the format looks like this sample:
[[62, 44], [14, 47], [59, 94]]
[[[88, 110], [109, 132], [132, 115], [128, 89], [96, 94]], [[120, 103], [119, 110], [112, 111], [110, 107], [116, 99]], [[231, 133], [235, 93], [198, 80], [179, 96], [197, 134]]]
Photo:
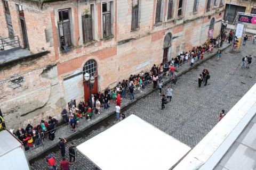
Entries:
[[102, 170], [168, 170], [191, 148], [131, 115], [77, 149]]

